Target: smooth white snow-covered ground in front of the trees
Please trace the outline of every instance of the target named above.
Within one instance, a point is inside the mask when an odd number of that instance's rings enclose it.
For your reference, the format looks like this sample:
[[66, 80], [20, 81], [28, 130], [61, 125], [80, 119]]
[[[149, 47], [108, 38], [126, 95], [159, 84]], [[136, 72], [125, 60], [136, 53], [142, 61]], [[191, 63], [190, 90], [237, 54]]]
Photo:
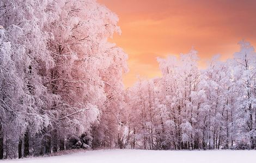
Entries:
[[187, 163], [246, 163], [255, 162], [256, 151], [145, 151], [113, 149], [78, 152], [45, 158], [5, 160], [6, 163], [142, 163], [142, 162], [187, 162]]

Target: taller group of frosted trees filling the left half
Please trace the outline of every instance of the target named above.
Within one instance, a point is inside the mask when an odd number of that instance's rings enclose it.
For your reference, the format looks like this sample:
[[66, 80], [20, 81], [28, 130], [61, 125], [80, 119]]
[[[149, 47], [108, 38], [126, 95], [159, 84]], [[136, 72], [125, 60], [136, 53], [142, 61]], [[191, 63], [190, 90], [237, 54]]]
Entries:
[[127, 71], [107, 42], [117, 22], [94, 0], [0, 1], [0, 159], [113, 146]]

